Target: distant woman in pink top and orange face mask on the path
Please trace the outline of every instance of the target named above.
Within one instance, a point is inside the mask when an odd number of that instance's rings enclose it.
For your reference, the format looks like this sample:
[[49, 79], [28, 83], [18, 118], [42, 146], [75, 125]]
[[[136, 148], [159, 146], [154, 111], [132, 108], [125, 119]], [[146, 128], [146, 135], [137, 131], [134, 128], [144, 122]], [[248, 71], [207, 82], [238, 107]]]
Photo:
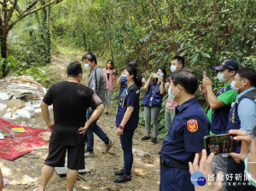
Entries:
[[102, 71], [104, 72], [104, 76], [106, 78], [106, 113], [108, 115], [108, 107], [110, 106], [110, 102], [111, 102], [111, 96], [113, 94], [113, 80], [116, 79], [116, 72], [114, 69], [114, 65], [113, 65], [113, 61], [108, 60], [107, 61], [107, 66], [105, 68], [102, 69]]

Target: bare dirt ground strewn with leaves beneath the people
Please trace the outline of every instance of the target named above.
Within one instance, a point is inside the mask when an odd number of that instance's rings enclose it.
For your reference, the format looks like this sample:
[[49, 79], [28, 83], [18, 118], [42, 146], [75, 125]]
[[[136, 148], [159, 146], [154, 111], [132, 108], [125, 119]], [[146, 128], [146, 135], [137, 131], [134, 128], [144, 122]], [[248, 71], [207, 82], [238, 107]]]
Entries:
[[[68, 63], [75, 59], [75, 56], [57, 55], [49, 69], [55, 70], [58, 77], [66, 78], [66, 68]], [[88, 72], [84, 73], [84, 79]], [[84, 84], [84, 83], [83, 83]], [[113, 148], [109, 153], [104, 153], [104, 143], [95, 135], [95, 156], [85, 158], [85, 164], [90, 172], [79, 175], [78, 182], [75, 185], [76, 190], [159, 190], [160, 185], [160, 165], [158, 151], [161, 142], [152, 145], [151, 142], [141, 142], [140, 138], [145, 135], [143, 126], [139, 126], [133, 137], [133, 148], [148, 152], [148, 157], [134, 155], [132, 166], [132, 182], [114, 183], [116, 176], [114, 171], [118, 171], [123, 165], [123, 152], [119, 142], [119, 136], [115, 133], [115, 115], [116, 107], [112, 107], [109, 115], [102, 114], [98, 124], [106, 132], [108, 137], [114, 141]], [[51, 114], [52, 118], [52, 114]], [[24, 124], [34, 128], [46, 128], [44, 120], [38, 114], [32, 119], [17, 119], [12, 121], [17, 124]], [[28, 155], [21, 156], [14, 161], [0, 159], [0, 166], [3, 171], [3, 177], [9, 179], [9, 184], [3, 188], [6, 191], [33, 190], [38, 187], [39, 178], [44, 159], [48, 154], [48, 144], [38, 148]], [[59, 177], [56, 173], [51, 178], [46, 190], [58, 191], [66, 190], [66, 177]]]

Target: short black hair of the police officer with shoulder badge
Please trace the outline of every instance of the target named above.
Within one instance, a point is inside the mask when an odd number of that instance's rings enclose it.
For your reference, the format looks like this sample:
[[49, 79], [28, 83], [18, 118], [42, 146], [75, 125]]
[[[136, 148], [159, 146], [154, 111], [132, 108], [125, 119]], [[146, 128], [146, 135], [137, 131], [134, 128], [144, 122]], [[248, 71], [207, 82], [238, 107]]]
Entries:
[[172, 73], [172, 83], [182, 85], [187, 93], [194, 95], [198, 86], [197, 74], [187, 69], [177, 70]]

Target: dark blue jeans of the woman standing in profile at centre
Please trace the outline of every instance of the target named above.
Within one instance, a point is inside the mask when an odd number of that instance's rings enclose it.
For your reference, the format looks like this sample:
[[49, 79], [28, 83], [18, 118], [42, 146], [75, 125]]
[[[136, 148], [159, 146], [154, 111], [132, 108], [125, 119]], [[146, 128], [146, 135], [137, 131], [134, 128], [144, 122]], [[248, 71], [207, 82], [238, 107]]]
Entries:
[[124, 171], [126, 176], [131, 176], [131, 167], [133, 163], [132, 154], [132, 136], [134, 130], [124, 130], [124, 134], [120, 136], [120, 142], [124, 153]]

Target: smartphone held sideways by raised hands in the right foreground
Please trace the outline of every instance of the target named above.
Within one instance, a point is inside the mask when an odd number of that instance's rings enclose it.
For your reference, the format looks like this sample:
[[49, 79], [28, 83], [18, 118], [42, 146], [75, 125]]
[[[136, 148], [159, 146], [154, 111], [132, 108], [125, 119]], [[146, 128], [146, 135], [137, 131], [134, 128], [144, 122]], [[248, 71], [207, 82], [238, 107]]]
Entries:
[[204, 136], [204, 148], [207, 150], [207, 155], [210, 153], [234, 153], [236, 152], [236, 140], [234, 140], [234, 135], [230, 134]]

